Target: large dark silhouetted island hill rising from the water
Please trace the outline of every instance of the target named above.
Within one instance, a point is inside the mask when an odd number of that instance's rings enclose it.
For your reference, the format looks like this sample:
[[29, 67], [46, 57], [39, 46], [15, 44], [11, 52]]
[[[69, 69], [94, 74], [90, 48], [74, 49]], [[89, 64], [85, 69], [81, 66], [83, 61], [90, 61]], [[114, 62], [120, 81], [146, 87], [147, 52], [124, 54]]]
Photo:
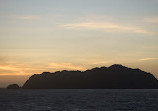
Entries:
[[122, 65], [93, 68], [86, 71], [43, 72], [32, 75], [24, 89], [155, 89], [157, 79], [140, 69]]

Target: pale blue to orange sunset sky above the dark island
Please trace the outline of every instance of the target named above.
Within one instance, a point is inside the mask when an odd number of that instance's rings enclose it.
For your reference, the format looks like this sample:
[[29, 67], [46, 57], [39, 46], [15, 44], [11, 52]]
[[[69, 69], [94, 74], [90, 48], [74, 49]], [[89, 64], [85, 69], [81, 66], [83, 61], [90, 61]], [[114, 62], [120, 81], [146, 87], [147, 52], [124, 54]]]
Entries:
[[158, 0], [0, 0], [0, 87], [112, 64], [158, 78]]

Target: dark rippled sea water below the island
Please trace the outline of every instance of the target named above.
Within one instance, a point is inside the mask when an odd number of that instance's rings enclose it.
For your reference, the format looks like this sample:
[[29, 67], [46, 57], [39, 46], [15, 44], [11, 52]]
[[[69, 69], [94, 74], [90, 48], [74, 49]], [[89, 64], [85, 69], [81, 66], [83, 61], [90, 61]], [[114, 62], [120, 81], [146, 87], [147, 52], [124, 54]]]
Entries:
[[158, 111], [158, 90], [0, 90], [1, 111]]

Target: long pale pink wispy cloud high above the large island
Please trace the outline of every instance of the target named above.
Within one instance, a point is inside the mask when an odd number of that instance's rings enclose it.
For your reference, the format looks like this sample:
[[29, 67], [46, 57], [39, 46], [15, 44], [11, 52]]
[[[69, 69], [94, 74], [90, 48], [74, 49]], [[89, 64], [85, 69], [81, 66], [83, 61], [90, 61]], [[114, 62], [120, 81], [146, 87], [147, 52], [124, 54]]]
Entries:
[[91, 29], [91, 30], [101, 30], [103, 32], [132, 32], [139, 34], [153, 34], [153, 32], [133, 27], [125, 26], [112, 22], [82, 22], [82, 23], [69, 23], [60, 25], [61, 27], [73, 30], [79, 29]]

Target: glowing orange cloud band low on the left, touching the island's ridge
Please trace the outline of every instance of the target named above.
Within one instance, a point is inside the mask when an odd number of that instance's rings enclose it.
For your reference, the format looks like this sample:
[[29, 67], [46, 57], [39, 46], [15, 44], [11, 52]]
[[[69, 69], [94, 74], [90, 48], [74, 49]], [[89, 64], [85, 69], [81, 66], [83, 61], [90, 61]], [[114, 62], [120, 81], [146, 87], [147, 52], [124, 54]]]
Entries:
[[59, 70], [86, 70], [83, 65], [74, 65], [67, 62], [40, 62], [24, 63], [19, 61], [5, 61], [0, 64], [0, 75], [30, 75], [38, 74], [44, 71], [55, 72]]

